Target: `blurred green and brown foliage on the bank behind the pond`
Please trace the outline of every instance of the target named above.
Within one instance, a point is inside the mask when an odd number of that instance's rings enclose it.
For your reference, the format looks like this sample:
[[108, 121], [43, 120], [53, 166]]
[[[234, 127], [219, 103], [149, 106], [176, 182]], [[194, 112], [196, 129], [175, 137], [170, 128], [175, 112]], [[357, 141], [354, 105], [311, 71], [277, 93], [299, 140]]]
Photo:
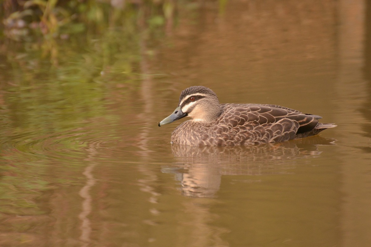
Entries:
[[175, 3], [173, 0], [4, 0], [1, 4], [3, 52], [9, 50], [7, 46], [12, 41], [18, 41], [18, 46], [40, 50], [42, 57], [49, 57], [57, 66], [62, 59], [60, 46], [64, 43], [81, 46], [97, 37], [110, 39], [114, 34], [112, 29], [122, 32], [124, 45], [139, 37], [152, 40], [162, 36], [166, 23], [173, 23]]

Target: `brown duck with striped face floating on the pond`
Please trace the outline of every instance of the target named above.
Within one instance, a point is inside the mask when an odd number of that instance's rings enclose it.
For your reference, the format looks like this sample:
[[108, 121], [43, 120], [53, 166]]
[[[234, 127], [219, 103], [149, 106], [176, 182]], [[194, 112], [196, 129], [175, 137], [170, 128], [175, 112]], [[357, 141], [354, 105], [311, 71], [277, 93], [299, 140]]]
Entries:
[[171, 134], [172, 144], [236, 146], [277, 143], [314, 136], [333, 123], [322, 117], [273, 104], [220, 104], [213, 90], [204, 86], [184, 89], [178, 107], [158, 126], [191, 117]]

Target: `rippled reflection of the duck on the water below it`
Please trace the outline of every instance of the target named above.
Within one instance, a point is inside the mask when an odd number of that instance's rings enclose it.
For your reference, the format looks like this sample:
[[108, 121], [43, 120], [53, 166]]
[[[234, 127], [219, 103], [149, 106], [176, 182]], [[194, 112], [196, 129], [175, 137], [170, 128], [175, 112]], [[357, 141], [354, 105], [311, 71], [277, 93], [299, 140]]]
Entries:
[[172, 145], [175, 166], [162, 169], [181, 181], [185, 196], [214, 197], [222, 175], [285, 174], [295, 160], [319, 157], [321, 145], [334, 145], [335, 139], [313, 136], [283, 143], [256, 146]]

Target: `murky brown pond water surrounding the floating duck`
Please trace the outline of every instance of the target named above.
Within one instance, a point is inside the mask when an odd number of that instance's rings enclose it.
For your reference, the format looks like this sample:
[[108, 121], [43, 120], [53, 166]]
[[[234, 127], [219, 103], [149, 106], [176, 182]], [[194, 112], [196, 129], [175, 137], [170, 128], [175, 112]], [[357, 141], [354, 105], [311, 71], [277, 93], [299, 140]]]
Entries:
[[[120, 29], [60, 47], [52, 68], [3, 52], [0, 246], [371, 244], [371, 2], [189, 6], [155, 45], [139, 39], [140, 59], [112, 45]], [[194, 85], [338, 127], [259, 146], [171, 145], [183, 120], [158, 122]]]

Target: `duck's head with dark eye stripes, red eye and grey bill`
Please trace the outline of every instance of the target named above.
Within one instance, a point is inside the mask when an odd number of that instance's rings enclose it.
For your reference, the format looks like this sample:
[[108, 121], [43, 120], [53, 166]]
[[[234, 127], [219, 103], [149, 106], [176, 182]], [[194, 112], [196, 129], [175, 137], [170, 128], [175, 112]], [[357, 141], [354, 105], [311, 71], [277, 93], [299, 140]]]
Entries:
[[204, 86], [193, 86], [183, 90], [180, 94], [178, 107], [158, 126], [172, 123], [187, 116], [191, 117], [193, 121], [211, 122], [219, 115], [220, 103], [213, 90]]

